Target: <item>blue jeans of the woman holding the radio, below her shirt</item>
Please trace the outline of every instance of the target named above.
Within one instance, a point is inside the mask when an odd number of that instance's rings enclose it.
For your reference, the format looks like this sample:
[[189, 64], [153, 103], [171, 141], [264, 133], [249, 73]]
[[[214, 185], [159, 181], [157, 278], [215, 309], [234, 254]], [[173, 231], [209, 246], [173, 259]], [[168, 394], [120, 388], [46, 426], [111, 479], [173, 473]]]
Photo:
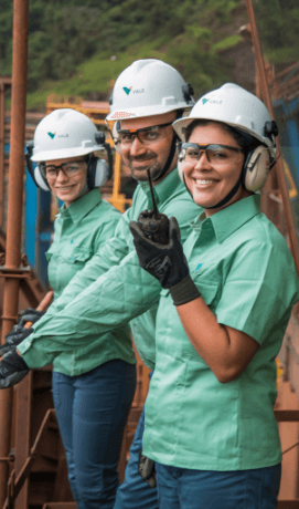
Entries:
[[160, 509], [276, 509], [281, 466], [191, 470], [157, 464]]

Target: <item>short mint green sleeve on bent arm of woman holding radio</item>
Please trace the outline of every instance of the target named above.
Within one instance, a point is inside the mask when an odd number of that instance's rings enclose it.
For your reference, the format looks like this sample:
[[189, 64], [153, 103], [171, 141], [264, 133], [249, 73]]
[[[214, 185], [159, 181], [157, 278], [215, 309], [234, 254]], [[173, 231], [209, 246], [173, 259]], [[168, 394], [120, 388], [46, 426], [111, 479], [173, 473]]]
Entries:
[[234, 258], [215, 314], [218, 323], [261, 344], [273, 328], [288, 321], [298, 299], [298, 277], [288, 249], [281, 252], [269, 243], [248, 242]]

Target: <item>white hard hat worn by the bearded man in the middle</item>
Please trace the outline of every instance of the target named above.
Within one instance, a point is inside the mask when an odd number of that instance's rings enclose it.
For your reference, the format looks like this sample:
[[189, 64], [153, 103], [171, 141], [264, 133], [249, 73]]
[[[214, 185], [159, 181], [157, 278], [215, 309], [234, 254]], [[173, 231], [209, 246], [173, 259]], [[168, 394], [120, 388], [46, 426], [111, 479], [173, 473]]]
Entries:
[[106, 121], [159, 115], [194, 104], [192, 87], [171, 65], [154, 59], [132, 62], [116, 80]]

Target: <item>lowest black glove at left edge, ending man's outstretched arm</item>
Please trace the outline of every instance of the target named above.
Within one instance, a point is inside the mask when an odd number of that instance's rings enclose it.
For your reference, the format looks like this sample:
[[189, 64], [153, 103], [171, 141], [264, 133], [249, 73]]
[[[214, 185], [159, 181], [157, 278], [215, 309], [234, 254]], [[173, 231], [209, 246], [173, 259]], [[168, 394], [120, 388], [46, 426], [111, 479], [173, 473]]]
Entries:
[[17, 353], [15, 349], [11, 350], [0, 361], [0, 388], [19, 384], [29, 371], [23, 357]]

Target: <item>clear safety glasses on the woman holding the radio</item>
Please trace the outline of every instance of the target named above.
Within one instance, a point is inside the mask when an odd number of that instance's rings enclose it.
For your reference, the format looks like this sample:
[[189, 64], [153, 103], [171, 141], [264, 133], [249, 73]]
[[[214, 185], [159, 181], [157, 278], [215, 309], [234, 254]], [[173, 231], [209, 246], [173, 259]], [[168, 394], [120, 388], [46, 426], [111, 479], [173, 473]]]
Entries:
[[197, 143], [179, 143], [179, 160], [196, 164], [204, 152], [209, 163], [214, 166], [236, 165], [242, 160], [243, 150], [231, 145], [197, 145]]

